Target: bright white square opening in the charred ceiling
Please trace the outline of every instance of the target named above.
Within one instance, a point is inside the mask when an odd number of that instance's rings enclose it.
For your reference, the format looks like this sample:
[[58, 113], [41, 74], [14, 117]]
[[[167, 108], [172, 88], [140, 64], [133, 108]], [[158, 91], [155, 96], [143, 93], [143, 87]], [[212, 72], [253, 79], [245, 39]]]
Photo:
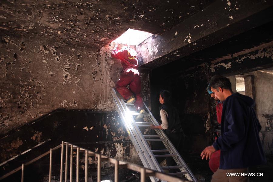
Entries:
[[113, 42], [128, 45], [139, 45], [141, 42], [143, 42], [145, 39], [152, 35], [153, 34], [146, 31], [133, 30], [129, 28], [126, 32], [124, 32], [119, 38], [117, 38]]

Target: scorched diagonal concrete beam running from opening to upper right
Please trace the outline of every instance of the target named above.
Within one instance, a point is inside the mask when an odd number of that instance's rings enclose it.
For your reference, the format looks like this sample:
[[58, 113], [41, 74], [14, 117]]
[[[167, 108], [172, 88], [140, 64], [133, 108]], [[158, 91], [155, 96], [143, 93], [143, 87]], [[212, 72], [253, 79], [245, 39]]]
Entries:
[[272, 1], [215, 1], [170, 31], [140, 43], [140, 67], [156, 68], [271, 21]]

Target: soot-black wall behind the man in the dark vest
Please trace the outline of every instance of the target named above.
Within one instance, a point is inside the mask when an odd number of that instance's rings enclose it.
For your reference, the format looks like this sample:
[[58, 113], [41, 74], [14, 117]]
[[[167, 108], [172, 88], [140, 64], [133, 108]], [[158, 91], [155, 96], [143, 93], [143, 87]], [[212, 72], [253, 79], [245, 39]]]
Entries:
[[[180, 67], [179, 72], [177, 67]], [[210, 98], [206, 92], [208, 71], [207, 65], [185, 70], [181, 62], [175, 61], [151, 72], [151, 111], [160, 121], [159, 93], [163, 89], [169, 90], [171, 103], [177, 108], [187, 135], [179, 149], [184, 155], [201, 153], [212, 142]]]

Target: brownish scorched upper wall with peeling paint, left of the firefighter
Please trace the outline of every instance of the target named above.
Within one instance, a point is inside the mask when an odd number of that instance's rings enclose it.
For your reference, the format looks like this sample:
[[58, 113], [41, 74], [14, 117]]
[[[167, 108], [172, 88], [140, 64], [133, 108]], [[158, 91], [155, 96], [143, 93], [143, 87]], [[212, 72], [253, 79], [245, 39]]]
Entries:
[[[122, 66], [111, 58], [113, 45], [17, 31], [1, 31], [0, 38], [0, 136], [58, 108], [114, 111], [110, 92]], [[149, 103], [149, 72], [141, 77]]]

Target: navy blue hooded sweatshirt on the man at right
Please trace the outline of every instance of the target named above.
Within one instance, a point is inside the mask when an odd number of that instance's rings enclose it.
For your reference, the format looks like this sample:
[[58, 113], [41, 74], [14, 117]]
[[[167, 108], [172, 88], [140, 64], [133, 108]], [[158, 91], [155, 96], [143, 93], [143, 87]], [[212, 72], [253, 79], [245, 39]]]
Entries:
[[223, 104], [221, 136], [213, 147], [221, 150], [220, 169], [240, 169], [265, 164], [259, 131], [261, 125], [253, 109], [254, 101], [234, 93]]

